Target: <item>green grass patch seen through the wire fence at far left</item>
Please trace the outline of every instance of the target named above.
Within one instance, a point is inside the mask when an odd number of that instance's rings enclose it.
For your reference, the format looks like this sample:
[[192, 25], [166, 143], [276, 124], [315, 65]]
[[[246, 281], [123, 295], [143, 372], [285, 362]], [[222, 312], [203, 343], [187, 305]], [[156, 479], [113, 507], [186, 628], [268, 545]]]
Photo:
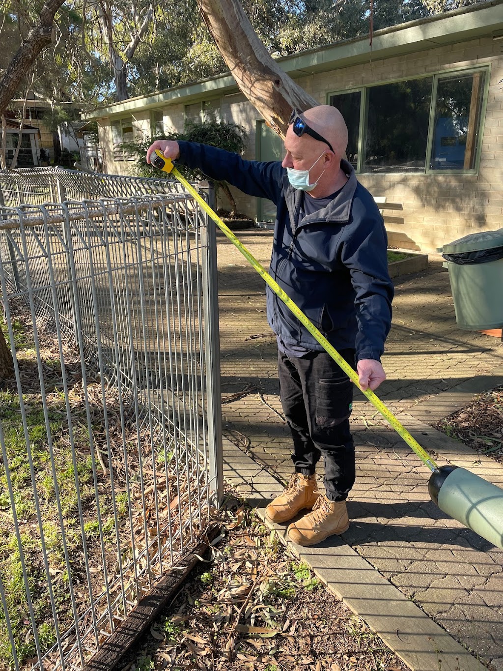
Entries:
[[[44, 407], [33, 333], [23, 326], [22, 321], [15, 320], [14, 323], [17, 361], [27, 393], [20, 399], [14, 381], [0, 391], [0, 421], [5, 440], [5, 456], [0, 463], [0, 576], [5, 588], [15, 650], [22, 665], [25, 660], [36, 656], [30, 601], [42, 652], [56, 642], [37, 503], [54, 605], [62, 632], [73, 622], [64, 541], [70, 557], [72, 582], [80, 582], [85, 570], [82, 566], [84, 541], [78, 497], [87, 541], [97, 535], [97, 522], [88, 519], [93, 515], [96, 503], [87, 411], [81, 389], [70, 389], [71, 413], [68, 421], [66, 400], [60, 391], [62, 373], [60, 360], [55, 354], [57, 346], [53, 343], [47, 351], [42, 344], [40, 357], [44, 372], [47, 372], [47, 378], [44, 377]], [[100, 421], [93, 421], [92, 428], [99, 431]], [[105, 500], [103, 497], [103, 503]], [[105, 509], [109, 513], [110, 507]], [[15, 533], [16, 521], [20, 543]], [[112, 537], [115, 529], [113, 516], [107, 515], [103, 522], [105, 539]], [[0, 609], [0, 660], [1, 669], [11, 668], [13, 654], [3, 609]]]

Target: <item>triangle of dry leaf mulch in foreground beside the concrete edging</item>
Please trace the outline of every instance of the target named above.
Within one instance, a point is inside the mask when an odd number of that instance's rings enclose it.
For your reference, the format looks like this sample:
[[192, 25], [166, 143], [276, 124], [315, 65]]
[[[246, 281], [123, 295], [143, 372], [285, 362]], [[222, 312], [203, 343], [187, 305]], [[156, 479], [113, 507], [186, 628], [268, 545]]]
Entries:
[[121, 671], [404, 671], [408, 667], [242, 505]]

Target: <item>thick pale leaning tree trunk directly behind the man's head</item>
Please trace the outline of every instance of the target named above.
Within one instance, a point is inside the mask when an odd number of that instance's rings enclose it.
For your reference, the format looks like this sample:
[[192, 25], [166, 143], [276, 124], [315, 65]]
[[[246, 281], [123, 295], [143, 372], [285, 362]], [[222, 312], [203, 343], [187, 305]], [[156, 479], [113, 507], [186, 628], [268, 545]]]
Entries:
[[283, 139], [292, 109], [319, 105], [271, 58], [239, 0], [197, 0], [241, 93]]

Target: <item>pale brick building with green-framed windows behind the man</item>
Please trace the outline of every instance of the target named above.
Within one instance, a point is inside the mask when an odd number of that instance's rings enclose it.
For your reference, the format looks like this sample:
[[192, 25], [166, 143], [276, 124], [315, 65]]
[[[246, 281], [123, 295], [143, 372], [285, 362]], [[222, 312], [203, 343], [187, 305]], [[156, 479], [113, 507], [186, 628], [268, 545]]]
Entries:
[[[380, 30], [372, 48], [366, 36], [278, 62], [341, 109], [358, 179], [401, 205], [385, 217], [392, 246], [435, 250], [503, 225], [503, 0]], [[281, 158], [282, 142], [226, 73], [93, 113], [105, 170], [131, 171], [120, 142], [182, 131], [207, 113], [246, 128], [245, 158]], [[236, 196], [239, 211], [274, 218], [268, 201]]]

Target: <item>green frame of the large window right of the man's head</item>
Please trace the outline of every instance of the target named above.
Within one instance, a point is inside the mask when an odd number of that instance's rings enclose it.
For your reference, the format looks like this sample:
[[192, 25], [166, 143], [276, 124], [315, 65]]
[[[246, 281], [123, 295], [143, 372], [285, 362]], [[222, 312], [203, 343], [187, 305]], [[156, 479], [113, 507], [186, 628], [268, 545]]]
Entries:
[[[453, 76], [456, 74], [476, 74], [477, 72], [482, 72], [485, 75], [485, 80], [484, 80], [484, 87], [482, 88], [482, 107], [480, 108], [480, 126], [479, 126], [479, 131], [478, 131], [478, 147], [477, 147], [477, 154], [475, 158], [475, 164], [474, 167], [465, 170], [464, 168], [462, 170], [456, 170], [455, 168], [452, 168], [451, 170], [446, 169], [446, 170], [439, 170], [438, 168], [431, 168], [431, 155], [432, 155], [432, 150], [433, 150], [433, 125], [435, 122], [435, 109], [436, 109], [436, 104], [437, 104], [437, 90], [438, 90], [438, 83], [439, 80], [441, 79], [451, 79]], [[428, 138], [427, 138], [427, 148], [426, 148], [426, 157], [425, 157], [425, 168], [424, 170], [418, 171], [418, 172], [380, 172], [379, 174], [400, 174], [400, 175], [412, 175], [412, 174], [427, 174], [427, 175], [469, 175], [469, 174], [478, 174], [480, 170], [480, 159], [482, 156], [482, 138], [484, 137], [484, 127], [486, 124], [486, 113], [487, 113], [487, 105], [488, 105], [488, 93], [489, 93], [489, 85], [490, 85], [490, 76], [491, 76], [491, 64], [490, 63], [484, 63], [482, 65], [478, 66], [460, 66], [459, 68], [452, 68], [450, 70], [442, 70], [441, 72], [425, 72], [425, 74], [421, 74], [419, 76], [403, 76], [399, 77], [398, 79], [384, 79], [383, 81], [380, 81], [376, 84], [366, 84], [362, 85], [359, 87], [351, 87], [349, 89], [338, 89], [336, 91], [330, 91], [327, 93], [326, 97], [326, 103], [327, 105], [330, 105], [330, 99], [333, 95], [344, 95], [345, 93], [357, 93], [359, 92], [361, 95], [360, 98], [360, 110], [359, 110], [359, 126], [358, 126], [358, 147], [357, 147], [357, 152], [358, 152], [358, 159], [357, 159], [357, 168], [356, 172], [357, 174], [376, 174], [375, 172], [371, 171], [363, 171], [362, 170], [362, 164], [364, 161], [364, 148], [366, 144], [366, 135], [367, 135], [367, 127], [366, 127], [366, 119], [368, 116], [368, 99], [369, 95], [368, 92], [370, 89], [374, 89], [375, 87], [378, 86], [384, 86], [387, 84], [395, 84], [398, 82], [402, 81], [410, 81], [411, 79], [433, 79], [432, 81], [432, 86], [431, 86], [431, 101], [430, 101], [430, 114], [429, 114], [429, 121], [428, 121]]]

